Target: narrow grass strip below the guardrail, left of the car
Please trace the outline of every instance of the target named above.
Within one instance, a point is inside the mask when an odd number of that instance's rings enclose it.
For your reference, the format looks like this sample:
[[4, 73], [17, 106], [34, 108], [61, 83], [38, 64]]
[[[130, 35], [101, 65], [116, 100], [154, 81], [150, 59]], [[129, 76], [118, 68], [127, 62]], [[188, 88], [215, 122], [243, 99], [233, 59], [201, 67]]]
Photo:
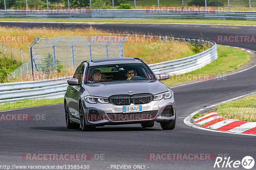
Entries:
[[35, 106], [43, 106], [50, 104], [59, 104], [63, 103], [64, 98], [57, 99], [25, 99], [23, 101], [18, 101], [14, 103], [6, 102], [4, 104], [0, 104], [0, 111], [2, 110], [10, 110], [10, 109], [20, 109], [26, 107], [35, 107]]

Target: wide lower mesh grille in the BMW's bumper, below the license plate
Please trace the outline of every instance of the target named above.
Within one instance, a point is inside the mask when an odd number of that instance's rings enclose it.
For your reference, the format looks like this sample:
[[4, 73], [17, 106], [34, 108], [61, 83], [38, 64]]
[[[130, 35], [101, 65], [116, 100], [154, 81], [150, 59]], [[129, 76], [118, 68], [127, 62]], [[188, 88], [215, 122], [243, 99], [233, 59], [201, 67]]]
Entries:
[[153, 119], [156, 117], [157, 112], [158, 110], [133, 112], [133, 113], [108, 113], [107, 115], [111, 121], [129, 121], [129, 120], [132, 121], [132, 120]]

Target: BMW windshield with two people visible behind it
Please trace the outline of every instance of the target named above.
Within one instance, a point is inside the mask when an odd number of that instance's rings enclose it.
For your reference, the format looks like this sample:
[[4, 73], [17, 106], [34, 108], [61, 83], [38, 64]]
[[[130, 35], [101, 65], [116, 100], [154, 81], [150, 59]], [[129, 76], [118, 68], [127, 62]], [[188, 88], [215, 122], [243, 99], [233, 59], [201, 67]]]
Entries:
[[108, 64], [88, 67], [85, 83], [157, 80], [145, 64]]

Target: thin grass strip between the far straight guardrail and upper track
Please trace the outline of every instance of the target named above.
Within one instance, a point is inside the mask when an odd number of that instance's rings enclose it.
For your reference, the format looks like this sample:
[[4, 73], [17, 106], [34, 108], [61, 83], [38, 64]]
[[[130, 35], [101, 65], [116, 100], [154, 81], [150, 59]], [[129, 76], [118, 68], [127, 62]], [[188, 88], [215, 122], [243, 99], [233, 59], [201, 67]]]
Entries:
[[232, 19], [41, 19], [41, 18], [1, 18], [1, 21], [34, 21], [34, 22], [128, 22], [128, 23], [193, 23], [193, 24], [230, 24], [230, 25], [256, 25], [254, 20]]

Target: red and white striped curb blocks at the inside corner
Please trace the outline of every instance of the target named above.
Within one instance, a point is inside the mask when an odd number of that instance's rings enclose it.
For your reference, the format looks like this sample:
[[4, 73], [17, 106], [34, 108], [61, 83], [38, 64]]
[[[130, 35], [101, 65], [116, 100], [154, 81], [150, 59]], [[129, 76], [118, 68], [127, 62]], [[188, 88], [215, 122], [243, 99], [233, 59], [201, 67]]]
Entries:
[[256, 122], [228, 119], [218, 115], [217, 111], [212, 111], [194, 119], [195, 124], [205, 128], [219, 131], [248, 133], [256, 135]]

